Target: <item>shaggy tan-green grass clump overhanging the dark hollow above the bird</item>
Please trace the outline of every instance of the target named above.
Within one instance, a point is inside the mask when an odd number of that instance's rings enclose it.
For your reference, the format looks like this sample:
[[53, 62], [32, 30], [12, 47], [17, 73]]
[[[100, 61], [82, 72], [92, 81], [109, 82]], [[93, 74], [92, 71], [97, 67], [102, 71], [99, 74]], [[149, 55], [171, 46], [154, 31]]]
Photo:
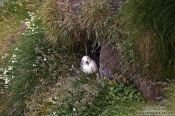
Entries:
[[[43, 7], [43, 22], [51, 43], [65, 46], [85, 46], [88, 40], [116, 40], [120, 29], [117, 12], [108, 1], [48, 1]], [[82, 48], [83, 48], [82, 47]]]

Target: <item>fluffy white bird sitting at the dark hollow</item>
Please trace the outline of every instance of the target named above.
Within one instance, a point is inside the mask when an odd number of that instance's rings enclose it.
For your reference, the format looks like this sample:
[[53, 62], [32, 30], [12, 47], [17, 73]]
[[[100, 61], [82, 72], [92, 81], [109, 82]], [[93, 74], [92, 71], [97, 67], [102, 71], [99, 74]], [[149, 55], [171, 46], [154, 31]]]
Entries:
[[84, 73], [91, 74], [97, 71], [97, 64], [96, 62], [91, 59], [89, 56], [83, 56], [81, 59], [81, 70]]

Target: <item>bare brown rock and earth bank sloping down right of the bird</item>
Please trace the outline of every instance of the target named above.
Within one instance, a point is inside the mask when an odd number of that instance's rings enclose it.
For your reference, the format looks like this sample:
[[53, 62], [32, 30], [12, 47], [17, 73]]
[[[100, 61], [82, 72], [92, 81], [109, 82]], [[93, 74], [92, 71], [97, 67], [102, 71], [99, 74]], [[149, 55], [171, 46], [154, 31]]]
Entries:
[[[161, 102], [164, 100], [161, 84], [157, 84], [150, 79], [141, 77], [135, 64], [128, 64], [123, 61], [122, 53], [117, 47], [112, 47], [110, 44], [101, 44], [100, 51], [100, 72], [109, 79], [124, 81], [127, 79], [133, 83], [137, 89], [143, 94], [146, 101]], [[122, 77], [115, 76], [115, 73]], [[121, 79], [122, 78], [122, 79]]]

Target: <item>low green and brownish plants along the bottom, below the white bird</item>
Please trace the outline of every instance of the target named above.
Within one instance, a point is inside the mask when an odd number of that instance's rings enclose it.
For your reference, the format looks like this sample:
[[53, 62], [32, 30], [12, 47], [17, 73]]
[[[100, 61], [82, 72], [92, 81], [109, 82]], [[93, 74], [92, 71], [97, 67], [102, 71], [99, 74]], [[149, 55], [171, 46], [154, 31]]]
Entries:
[[140, 92], [133, 86], [108, 82], [102, 86], [94, 76], [83, 74], [59, 78], [55, 85], [47, 85], [47, 92], [41, 86], [29, 98], [26, 114], [132, 116], [144, 104]]

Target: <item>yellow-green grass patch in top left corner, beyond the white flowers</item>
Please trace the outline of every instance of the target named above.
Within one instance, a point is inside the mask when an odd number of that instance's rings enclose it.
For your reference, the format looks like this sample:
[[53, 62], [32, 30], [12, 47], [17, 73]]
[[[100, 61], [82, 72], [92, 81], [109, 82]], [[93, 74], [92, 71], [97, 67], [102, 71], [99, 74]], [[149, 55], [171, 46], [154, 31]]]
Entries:
[[[25, 19], [29, 12], [37, 12], [42, 1], [7, 0], [0, 6], [0, 55], [10, 49], [25, 31]], [[1, 60], [0, 60], [1, 63]]]

